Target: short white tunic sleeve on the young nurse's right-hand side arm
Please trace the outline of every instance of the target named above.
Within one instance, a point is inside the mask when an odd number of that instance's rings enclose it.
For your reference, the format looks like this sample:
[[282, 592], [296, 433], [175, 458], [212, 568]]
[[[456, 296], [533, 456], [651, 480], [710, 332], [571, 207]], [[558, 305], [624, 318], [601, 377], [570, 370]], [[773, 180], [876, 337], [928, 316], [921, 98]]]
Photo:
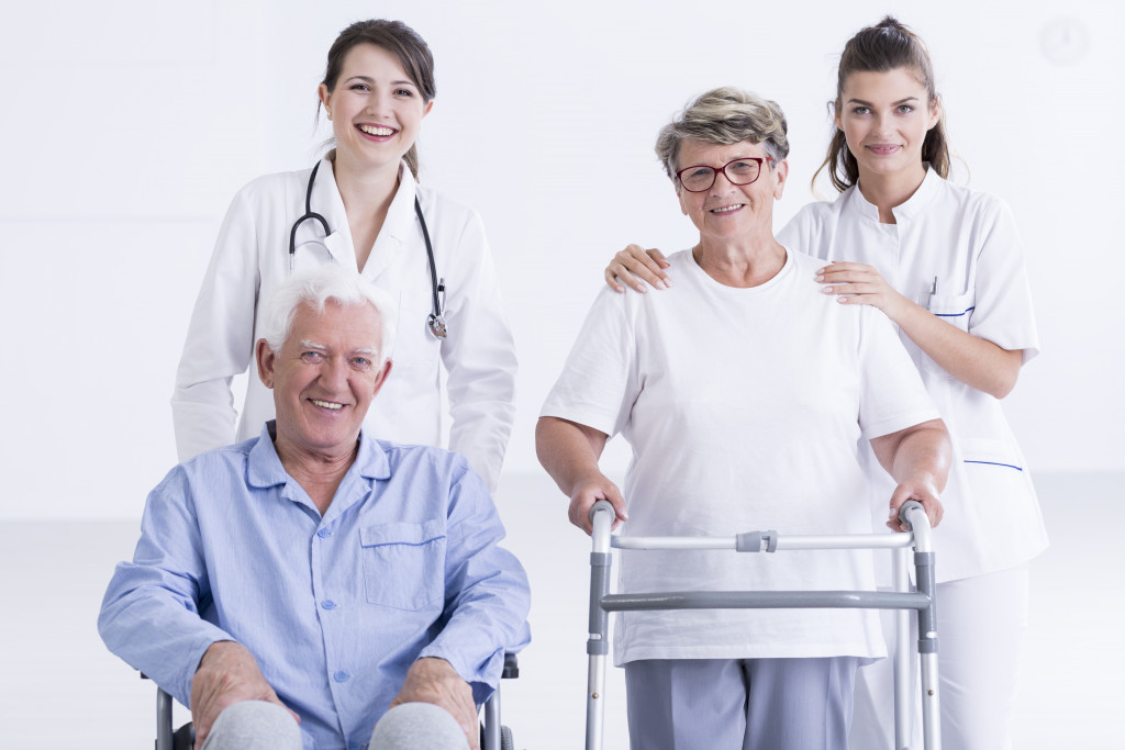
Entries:
[[1024, 247], [1008, 206], [992, 199], [981, 211], [975, 299], [969, 333], [1007, 350], [1024, 350], [1024, 362], [1040, 352]]

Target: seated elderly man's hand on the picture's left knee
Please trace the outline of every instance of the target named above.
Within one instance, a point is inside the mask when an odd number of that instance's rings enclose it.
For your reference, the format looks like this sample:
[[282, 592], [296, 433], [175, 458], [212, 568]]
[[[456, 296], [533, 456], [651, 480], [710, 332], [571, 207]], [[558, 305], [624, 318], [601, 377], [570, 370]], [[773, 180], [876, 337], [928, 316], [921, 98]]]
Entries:
[[191, 722], [196, 725], [196, 750], [215, 725], [223, 710], [242, 701], [267, 701], [289, 711], [300, 723], [300, 716], [278, 698], [262, 677], [254, 657], [240, 643], [212, 643], [191, 678]]

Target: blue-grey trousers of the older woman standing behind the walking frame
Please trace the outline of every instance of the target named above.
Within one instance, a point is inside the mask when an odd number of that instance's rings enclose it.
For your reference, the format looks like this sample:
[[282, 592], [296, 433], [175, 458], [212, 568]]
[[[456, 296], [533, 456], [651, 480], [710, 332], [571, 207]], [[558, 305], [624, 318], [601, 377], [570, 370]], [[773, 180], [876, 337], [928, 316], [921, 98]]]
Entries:
[[626, 665], [633, 750], [844, 750], [855, 657]]

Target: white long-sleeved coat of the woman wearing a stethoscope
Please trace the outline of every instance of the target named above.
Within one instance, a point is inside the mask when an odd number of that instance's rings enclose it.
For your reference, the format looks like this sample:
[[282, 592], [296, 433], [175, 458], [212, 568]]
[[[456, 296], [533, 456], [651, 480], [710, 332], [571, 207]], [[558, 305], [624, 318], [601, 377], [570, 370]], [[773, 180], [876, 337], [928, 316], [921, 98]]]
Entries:
[[[273, 417], [273, 396], [251, 368], [237, 431], [231, 379], [253, 360], [259, 311], [289, 274], [289, 232], [305, 213], [312, 169], [259, 178], [231, 204], [188, 327], [172, 395], [181, 461], [252, 437]], [[444, 364], [448, 448], [464, 453], [495, 490], [515, 414], [515, 346], [501, 304], [480, 218], [471, 209], [418, 186], [399, 170], [398, 191], [363, 268], [363, 277], [398, 302], [394, 368], [364, 422], [380, 439], [441, 445]], [[432, 308], [425, 241], [414, 213], [418, 198], [439, 278], [446, 280], [449, 336], [426, 327]], [[356, 251], [332, 163], [321, 162], [313, 186], [315, 220], [297, 232], [296, 268], [334, 261], [356, 268]]]

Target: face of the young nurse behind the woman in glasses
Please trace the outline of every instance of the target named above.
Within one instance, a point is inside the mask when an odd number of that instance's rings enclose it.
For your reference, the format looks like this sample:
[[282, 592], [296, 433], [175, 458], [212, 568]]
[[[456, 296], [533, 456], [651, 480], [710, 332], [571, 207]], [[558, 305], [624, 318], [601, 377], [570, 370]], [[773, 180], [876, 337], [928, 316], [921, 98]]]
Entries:
[[836, 127], [858, 163], [861, 182], [864, 174], [921, 172], [921, 146], [938, 107], [906, 67], [849, 74], [836, 102]]

